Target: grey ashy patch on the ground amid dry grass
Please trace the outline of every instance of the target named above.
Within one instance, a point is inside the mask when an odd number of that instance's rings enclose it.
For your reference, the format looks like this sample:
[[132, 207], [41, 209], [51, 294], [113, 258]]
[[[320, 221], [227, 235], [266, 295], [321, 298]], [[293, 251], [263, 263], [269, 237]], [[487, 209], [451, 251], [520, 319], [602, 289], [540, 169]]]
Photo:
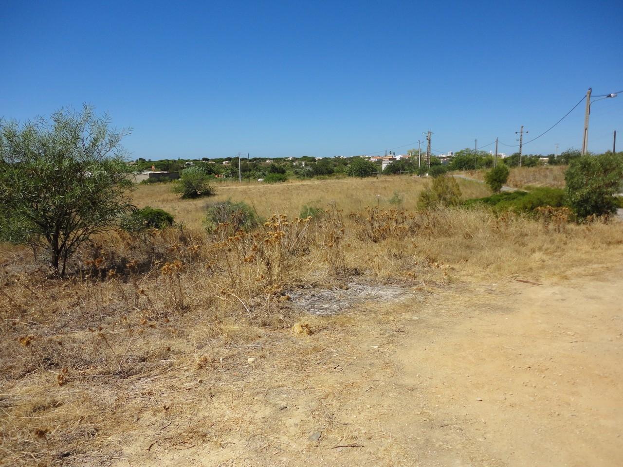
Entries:
[[354, 281], [342, 287], [305, 288], [288, 292], [294, 308], [321, 316], [347, 311], [359, 303], [397, 301], [407, 295], [410, 295], [409, 290], [404, 285]]

